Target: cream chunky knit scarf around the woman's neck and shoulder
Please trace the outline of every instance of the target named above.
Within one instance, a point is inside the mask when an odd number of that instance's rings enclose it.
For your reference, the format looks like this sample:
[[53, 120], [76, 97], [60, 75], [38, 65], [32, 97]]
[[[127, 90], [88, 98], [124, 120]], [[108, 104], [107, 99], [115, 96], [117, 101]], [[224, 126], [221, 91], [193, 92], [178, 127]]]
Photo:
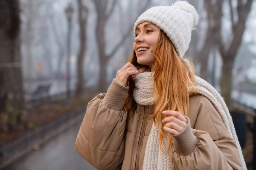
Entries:
[[[140, 105], [154, 105], [154, 82], [153, 82], [154, 72], [143, 72], [133, 76], [135, 83], [134, 88], [134, 99]], [[241, 151], [241, 147], [236, 136], [236, 131], [232, 122], [232, 118], [228, 111], [227, 105], [224, 102], [224, 99], [221, 95], [213, 88], [209, 83], [204, 79], [196, 76], [197, 80], [197, 94], [201, 94], [207, 97], [212, 104], [217, 109], [218, 113], [221, 116], [222, 121], [227, 127], [230, 136], [236, 142], [236, 146], [239, 150], [239, 156], [243, 169], [247, 170], [244, 157]], [[192, 91], [192, 88], [190, 88]], [[154, 123], [151, 128], [151, 132], [148, 137], [148, 142], [146, 145], [145, 158], [143, 163], [143, 170], [171, 170], [171, 161], [167, 153], [163, 153], [159, 147], [159, 131], [155, 127]], [[167, 137], [163, 139], [163, 150], [167, 150], [169, 146], [169, 141]]]

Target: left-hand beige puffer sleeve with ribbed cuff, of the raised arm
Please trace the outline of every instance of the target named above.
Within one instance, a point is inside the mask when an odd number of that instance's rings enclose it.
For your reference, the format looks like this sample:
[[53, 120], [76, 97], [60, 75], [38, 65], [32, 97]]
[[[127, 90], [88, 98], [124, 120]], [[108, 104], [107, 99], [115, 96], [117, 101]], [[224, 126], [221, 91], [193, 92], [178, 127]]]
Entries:
[[98, 170], [121, 169], [128, 88], [113, 79], [107, 93], [99, 94], [87, 105], [75, 149]]

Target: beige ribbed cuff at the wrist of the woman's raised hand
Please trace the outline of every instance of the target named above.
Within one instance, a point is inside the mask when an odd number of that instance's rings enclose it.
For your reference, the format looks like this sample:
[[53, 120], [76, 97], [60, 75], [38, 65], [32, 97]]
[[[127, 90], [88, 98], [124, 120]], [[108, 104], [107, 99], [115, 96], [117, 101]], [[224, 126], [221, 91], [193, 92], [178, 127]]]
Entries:
[[124, 87], [113, 79], [105, 97], [102, 99], [102, 104], [111, 110], [122, 111], [128, 90], [129, 86]]

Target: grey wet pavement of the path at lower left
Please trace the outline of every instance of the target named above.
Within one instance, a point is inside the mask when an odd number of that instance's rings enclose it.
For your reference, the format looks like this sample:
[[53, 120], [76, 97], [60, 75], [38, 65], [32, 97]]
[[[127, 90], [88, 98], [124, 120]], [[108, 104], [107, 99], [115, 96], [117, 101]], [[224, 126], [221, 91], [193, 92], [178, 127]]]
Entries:
[[81, 123], [3, 170], [96, 170], [74, 148]]

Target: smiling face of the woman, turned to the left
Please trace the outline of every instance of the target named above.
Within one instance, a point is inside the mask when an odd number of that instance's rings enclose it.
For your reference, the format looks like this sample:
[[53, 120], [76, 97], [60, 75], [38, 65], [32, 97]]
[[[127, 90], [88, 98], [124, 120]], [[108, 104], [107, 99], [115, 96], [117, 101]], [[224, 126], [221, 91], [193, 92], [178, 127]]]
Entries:
[[152, 23], [144, 22], [137, 26], [133, 47], [139, 64], [152, 67], [154, 55], [151, 51], [157, 47], [159, 34], [160, 28]]

